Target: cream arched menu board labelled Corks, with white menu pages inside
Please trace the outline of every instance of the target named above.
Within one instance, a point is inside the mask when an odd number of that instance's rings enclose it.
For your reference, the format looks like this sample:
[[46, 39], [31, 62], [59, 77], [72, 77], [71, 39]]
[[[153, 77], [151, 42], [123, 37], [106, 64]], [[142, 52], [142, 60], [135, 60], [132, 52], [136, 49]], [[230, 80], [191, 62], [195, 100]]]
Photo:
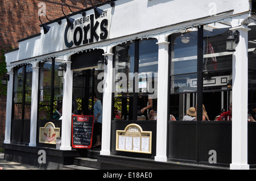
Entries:
[[115, 150], [151, 154], [152, 132], [143, 131], [138, 124], [117, 130]]

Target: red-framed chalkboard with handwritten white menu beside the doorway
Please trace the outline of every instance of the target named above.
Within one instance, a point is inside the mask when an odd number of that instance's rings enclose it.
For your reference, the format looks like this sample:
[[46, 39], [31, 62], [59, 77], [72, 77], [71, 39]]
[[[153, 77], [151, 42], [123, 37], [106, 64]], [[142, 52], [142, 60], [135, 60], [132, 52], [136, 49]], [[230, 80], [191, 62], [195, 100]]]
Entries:
[[72, 115], [72, 148], [92, 148], [94, 116]]

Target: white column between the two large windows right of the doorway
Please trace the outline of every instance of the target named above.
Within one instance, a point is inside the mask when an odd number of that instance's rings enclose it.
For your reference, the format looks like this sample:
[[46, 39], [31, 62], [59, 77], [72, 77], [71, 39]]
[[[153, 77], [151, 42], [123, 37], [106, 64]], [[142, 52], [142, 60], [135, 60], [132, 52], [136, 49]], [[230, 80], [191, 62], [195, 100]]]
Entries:
[[167, 161], [168, 45], [159, 41], [158, 50], [158, 120], [156, 121], [155, 161]]

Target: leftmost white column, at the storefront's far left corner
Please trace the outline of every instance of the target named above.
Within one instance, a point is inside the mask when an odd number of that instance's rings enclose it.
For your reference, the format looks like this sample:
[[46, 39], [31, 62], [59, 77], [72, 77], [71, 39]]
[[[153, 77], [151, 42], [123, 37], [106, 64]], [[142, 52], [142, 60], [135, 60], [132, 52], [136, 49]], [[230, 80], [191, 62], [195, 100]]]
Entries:
[[6, 98], [6, 119], [5, 119], [5, 141], [3, 143], [11, 143], [11, 112], [13, 107], [13, 71], [9, 71], [9, 82], [7, 85], [7, 98]]

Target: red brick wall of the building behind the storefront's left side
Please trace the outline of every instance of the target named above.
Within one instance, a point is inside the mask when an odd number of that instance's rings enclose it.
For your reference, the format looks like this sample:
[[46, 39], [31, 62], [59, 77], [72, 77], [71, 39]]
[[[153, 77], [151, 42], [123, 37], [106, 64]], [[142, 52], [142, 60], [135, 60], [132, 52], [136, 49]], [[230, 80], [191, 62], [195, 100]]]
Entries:
[[[100, 3], [97, 0], [92, 2], [93, 5]], [[38, 7], [39, 3], [45, 6]], [[10, 47], [18, 48], [18, 40], [40, 32], [39, 9], [44, 10], [45, 7], [46, 15], [50, 20], [64, 16], [61, 10], [63, 3], [67, 3], [73, 12], [91, 6], [89, 0], [1, 0], [0, 50], [8, 50]], [[63, 7], [64, 13], [69, 14], [68, 6]], [[45, 16], [42, 16], [41, 20], [43, 23], [48, 22]], [[5, 110], [6, 98], [0, 96], [0, 148], [5, 137]]]

